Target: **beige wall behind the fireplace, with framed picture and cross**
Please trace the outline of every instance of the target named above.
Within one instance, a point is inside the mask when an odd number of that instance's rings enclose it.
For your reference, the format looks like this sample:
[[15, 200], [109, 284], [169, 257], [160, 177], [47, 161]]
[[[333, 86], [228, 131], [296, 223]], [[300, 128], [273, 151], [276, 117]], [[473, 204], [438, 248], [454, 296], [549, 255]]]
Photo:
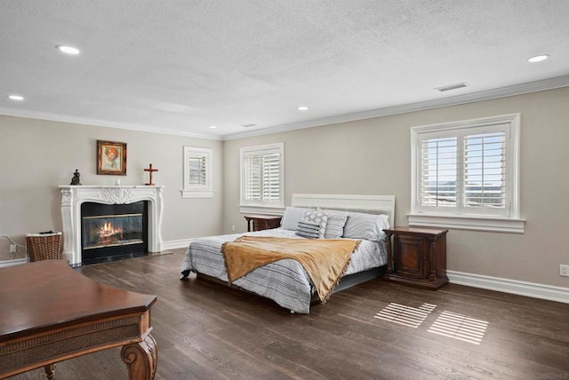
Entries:
[[[96, 174], [98, 139], [127, 143], [126, 176]], [[213, 149], [213, 198], [181, 198], [183, 146]], [[222, 141], [0, 116], [0, 235], [23, 244], [30, 232], [60, 230], [57, 186], [69, 185], [76, 169], [82, 185], [114, 185], [116, 178], [121, 185], [143, 185], [148, 163], [159, 170], [153, 182], [165, 186], [164, 242], [220, 234], [222, 148]], [[0, 238], [0, 259], [11, 257], [8, 244]]]

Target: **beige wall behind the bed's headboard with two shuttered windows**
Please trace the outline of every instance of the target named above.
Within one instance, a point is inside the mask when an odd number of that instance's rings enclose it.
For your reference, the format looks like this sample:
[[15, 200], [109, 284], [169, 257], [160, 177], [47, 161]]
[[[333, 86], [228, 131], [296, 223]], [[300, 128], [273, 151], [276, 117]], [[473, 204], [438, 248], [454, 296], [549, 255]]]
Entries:
[[239, 204], [239, 148], [284, 142], [286, 204], [293, 193], [394, 194], [396, 225], [410, 211], [413, 126], [521, 114], [521, 210], [525, 234], [451, 230], [449, 270], [569, 288], [569, 88], [255, 138], [224, 148], [224, 231], [244, 231]]

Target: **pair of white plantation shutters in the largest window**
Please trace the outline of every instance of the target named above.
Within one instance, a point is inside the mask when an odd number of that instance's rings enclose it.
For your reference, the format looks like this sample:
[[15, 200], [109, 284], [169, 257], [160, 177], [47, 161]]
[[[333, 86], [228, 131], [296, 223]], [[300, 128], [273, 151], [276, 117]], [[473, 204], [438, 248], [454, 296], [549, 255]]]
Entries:
[[419, 142], [419, 210], [509, 215], [508, 126], [424, 133]]

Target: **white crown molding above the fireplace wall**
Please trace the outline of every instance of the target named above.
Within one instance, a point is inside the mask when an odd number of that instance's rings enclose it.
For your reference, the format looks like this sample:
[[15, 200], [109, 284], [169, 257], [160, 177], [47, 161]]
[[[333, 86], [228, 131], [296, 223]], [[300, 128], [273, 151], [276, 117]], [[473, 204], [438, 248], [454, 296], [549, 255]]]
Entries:
[[184, 136], [184, 137], [196, 138], [196, 139], [208, 139], [208, 140], [220, 140], [221, 139], [220, 136], [215, 136], [215, 135], [176, 131], [176, 130], [171, 130], [168, 128], [158, 128], [158, 127], [153, 127], [153, 126], [149, 126], [149, 125], [141, 125], [141, 124], [110, 122], [108, 120], [91, 119], [88, 117], [76, 117], [76, 116], [70, 116], [70, 115], [52, 114], [52, 113], [47, 113], [47, 112], [29, 111], [29, 110], [20, 109], [20, 108], [0, 107], [0, 115], [27, 117], [30, 119], [49, 120], [52, 122], [61, 122], [61, 123], [94, 125], [97, 127], [116, 128], [119, 130], [160, 133], [163, 135]]

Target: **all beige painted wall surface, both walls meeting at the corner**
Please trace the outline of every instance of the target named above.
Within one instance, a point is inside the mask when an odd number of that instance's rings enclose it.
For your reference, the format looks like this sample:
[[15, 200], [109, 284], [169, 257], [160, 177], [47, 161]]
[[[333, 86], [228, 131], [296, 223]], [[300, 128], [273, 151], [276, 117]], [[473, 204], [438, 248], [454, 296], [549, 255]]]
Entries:
[[[61, 228], [58, 185], [82, 173], [84, 185], [112, 185], [98, 176], [97, 139], [128, 144], [124, 185], [164, 185], [165, 242], [244, 231], [239, 213], [239, 148], [284, 142], [285, 196], [293, 193], [394, 194], [396, 225], [410, 210], [409, 129], [479, 117], [520, 113], [522, 118], [522, 217], [525, 234], [451, 230], [448, 269], [569, 288], [559, 264], [569, 264], [569, 88], [455, 107], [288, 131], [225, 143], [155, 133], [0, 116], [0, 235], [22, 243], [29, 232]], [[182, 146], [213, 148], [212, 199], [181, 199]], [[0, 258], [10, 257], [0, 238]]]

